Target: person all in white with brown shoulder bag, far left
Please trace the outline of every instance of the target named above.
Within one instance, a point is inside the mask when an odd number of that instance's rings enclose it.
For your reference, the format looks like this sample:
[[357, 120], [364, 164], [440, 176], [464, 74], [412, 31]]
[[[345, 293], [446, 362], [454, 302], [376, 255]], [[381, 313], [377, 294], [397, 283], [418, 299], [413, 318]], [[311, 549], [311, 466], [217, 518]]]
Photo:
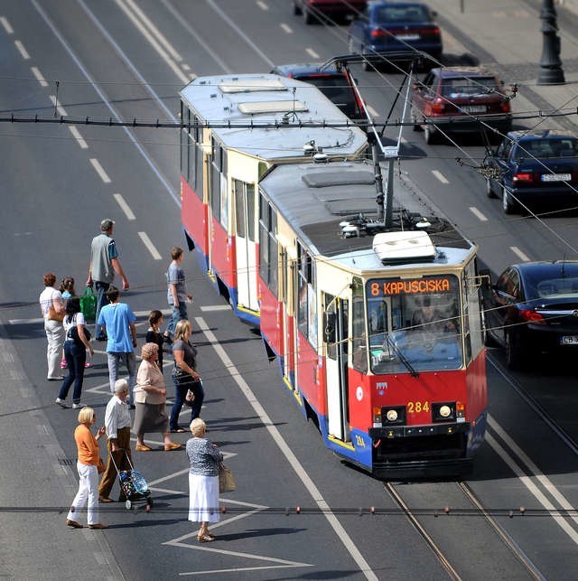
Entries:
[[53, 272], [47, 272], [43, 277], [44, 290], [40, 294], [39, 302], [42, 317], [44, 318], [44, 333], [46, 333], [46, 361], [48, 362], [49, 381], [63, 380], [61, 375], [60, 360], [62, 342], [64, 341], [64, 329], [62, 328], [62, 319], [64, 318], [64, 301], [62, 300], [61, 291], [54, 285], [56, 284], [56, 275]]

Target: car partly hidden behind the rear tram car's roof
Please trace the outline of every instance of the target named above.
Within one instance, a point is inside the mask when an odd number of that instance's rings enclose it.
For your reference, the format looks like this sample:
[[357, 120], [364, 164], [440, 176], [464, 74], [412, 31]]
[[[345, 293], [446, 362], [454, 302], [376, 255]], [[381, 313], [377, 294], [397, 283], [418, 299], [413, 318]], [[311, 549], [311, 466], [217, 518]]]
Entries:
[[361, 98], [351, 84], [350, 77], [343, 70], [338, 70], [335, 65], [325, 66], [321, 62], [281, 64], [271, 72], [311, 83], [350, 119], [367, 120]]

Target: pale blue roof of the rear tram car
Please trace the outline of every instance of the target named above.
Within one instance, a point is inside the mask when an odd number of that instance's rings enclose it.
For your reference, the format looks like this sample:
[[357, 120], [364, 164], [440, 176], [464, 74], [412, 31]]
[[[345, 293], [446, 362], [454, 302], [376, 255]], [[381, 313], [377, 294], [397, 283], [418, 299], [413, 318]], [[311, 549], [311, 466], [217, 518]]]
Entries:
[[[301, 80], [273, 74], [198, 77], [180, 94], [202, 121], [230, 123], [212, 127], [223, 145], [266, 160], [303, 156], [303, 145], [311, 141], [330, 156], [359, 155], [367, 147], [366, 134], [319, 89]], [[254, 127], [235, 127], [249, 123]]]

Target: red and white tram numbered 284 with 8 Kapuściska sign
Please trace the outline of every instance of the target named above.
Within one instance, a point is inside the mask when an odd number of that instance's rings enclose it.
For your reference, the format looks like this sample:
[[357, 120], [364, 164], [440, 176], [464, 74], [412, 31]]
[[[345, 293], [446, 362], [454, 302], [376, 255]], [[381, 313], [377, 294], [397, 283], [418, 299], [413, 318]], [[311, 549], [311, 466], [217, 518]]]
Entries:
[[[199, 116], [192, 97], [182, 112]], [[218, 146], [202, 127], [208, 171], [202, 190], [182, 175], [185, 234], [238, 316], [258, 325], [327, 447], [380, 478], [468, 473], [487, 414], [477, 247], [393, 172], [398, 205], [384, 216], [365, 136], [346, 125], [347, 145], [331, 151], [332, 128], [305, 129], [330, 152], [311, 157], [288, 151], [276, 127], [245, 145], [231, 140], [255, 129], [219, 130]], [[226, 162], [213, 177], [216, 159]]]

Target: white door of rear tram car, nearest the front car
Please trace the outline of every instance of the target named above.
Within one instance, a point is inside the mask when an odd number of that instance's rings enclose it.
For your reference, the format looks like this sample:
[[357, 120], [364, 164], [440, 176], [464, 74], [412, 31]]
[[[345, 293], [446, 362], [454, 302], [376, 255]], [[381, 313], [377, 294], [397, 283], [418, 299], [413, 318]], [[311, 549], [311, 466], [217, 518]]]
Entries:
[[258, 311], [256, 288], [255, 184], [233, 180], [235, 195], [237, 303]]

